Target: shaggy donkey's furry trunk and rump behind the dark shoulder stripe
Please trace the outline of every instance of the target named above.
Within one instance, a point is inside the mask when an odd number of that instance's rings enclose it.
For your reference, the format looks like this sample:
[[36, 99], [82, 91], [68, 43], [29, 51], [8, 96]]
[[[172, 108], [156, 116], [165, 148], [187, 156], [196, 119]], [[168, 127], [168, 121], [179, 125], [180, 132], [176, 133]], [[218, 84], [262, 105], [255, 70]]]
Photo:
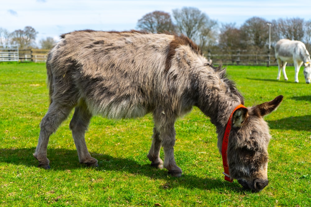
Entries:
[[172, 35], [86, 30], [62, 38], [47, 61], [52, 101], [83, 100], [93, 114], [118, 119], [145, 115], [167, 93]]

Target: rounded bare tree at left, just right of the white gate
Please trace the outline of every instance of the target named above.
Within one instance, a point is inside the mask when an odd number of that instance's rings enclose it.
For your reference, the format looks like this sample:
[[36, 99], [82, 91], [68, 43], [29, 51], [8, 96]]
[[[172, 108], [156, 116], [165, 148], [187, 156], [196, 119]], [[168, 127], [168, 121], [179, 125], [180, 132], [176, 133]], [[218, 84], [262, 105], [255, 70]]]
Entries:
[[35, 41], [38, 32], [30, 26], [26, 26], [24, 30], [18, 29], [12, 32], [12, 43], [18, 44], [19, 48], [27, 49]]

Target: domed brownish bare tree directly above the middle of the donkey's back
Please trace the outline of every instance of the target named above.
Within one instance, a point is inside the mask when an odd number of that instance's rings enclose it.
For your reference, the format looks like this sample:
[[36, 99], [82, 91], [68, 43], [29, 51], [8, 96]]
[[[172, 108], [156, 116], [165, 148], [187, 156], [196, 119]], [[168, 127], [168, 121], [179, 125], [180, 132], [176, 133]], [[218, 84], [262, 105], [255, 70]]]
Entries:
[[151, 33], [174, 32], [174, 24], [169, 13], [153, 11], [144, 15], [137, 22], [137, 28]]

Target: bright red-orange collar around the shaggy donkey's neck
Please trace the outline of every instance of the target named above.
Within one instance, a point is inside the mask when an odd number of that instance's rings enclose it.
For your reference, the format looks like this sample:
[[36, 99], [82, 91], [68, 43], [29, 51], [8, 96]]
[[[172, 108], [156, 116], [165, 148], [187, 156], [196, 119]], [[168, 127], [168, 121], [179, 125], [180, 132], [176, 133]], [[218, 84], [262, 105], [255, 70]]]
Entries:
[[223, 174], [225, 175], [225, 180], [229, 181], [229, 182], [233, 182], [233, 179], [230, 178], [229, 166], [228, 166], [228, 161], [227, 161], [228, 140], [229, 140], [229, 134], [230, 134], [231, 125], [232, 125], [232, 115], [233, 115], [234, 111], [239, 109], [239, 108], [246, 108], [246, 107], [243, 106], [242, 104], [240, 104], [239, 106], [237, 106], [233, 110], [233, 112], [231, 113], [231, 115], [229, 117], [227, 126], [226, 126], [224, 139], [222, 140], [221, 154], [222, 154], [222, 164], [224, 165], [224, 171], [225, 171], [225, 172], [223, 172]]

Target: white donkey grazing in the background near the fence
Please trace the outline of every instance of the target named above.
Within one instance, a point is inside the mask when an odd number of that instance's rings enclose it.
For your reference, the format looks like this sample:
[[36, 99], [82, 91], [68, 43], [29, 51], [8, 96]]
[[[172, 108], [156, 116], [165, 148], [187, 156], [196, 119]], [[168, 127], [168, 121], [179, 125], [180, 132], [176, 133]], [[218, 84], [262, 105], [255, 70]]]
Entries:
[[298, 73], [302, 64], [304, 64], [304, 78], [306, 83], [311, 82], [311, 59], [304, 43], [289, 39], [280, 39], [275, 46], [275, 57], [279, 65], [277, 80], [281, 77], [281, 68], [284, 79], [288, 80], [285, 67], [287, 62], [294, 62], [295, 82], [298, 83]]

